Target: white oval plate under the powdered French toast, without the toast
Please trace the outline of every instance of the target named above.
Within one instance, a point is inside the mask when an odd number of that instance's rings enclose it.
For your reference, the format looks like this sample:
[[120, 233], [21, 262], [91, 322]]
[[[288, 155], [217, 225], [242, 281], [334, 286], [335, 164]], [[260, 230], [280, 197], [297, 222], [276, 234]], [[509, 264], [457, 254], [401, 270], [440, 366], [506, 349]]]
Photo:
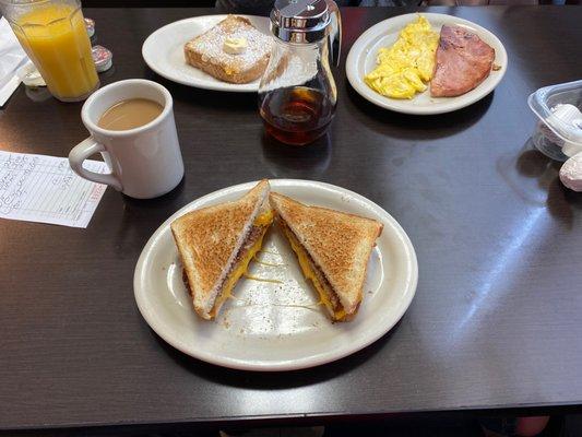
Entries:
[[[195, 36], [226, 19], [227, 15], [203, 15], [176, 21], [158, 28], [150, 35], [142, 46], [142, 56], [147, 66], [157, 74], [182, 85], [199, 88], [229, 91], [235, 93], [256, 93], [259, 80], [237, 84], [219, 81], [202, 70], [186, 63], [183, 45]], [[239, 15], [250, 20], [260, 32], [271, 35], [269, 19], [265, 16]]]

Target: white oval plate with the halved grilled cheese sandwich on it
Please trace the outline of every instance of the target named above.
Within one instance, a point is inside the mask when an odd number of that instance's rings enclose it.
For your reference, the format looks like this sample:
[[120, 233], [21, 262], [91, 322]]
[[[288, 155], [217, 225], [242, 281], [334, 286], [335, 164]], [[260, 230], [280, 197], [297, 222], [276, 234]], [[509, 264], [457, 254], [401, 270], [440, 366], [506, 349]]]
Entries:
[[380, 339], [411, 305], [417, 277], [411, 240], [379, 205], [329, 184], [274, 179], [173, 214], [140, 256], [134, 292], [174, 347], [274, 371], [330, 363]]

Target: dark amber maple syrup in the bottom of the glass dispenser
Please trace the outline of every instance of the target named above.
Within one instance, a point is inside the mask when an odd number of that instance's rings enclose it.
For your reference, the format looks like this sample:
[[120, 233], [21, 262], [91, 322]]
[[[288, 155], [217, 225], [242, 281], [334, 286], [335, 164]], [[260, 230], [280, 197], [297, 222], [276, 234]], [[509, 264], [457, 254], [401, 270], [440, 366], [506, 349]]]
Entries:
[[334, 113], [335, 103], [307, 86], [272, 91], [260, 107], [266, 132], [293, 145], [305, 145], [323, 135]]

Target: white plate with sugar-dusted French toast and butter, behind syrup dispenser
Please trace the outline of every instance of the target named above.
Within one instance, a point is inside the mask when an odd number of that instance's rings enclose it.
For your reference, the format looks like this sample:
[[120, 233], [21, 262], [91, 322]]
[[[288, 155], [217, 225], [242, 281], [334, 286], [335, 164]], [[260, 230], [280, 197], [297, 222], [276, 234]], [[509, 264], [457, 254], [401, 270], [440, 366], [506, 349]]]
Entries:
[[183, 85], [256, 93], [271, 43], [268, 17], [203, 15], [158, 28], [142, 56], [157, 74]]

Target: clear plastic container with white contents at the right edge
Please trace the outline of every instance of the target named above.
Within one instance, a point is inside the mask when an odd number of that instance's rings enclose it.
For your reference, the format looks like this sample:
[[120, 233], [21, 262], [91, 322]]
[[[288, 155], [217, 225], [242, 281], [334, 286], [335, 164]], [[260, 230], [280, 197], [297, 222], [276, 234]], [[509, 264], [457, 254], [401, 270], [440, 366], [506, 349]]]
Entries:
[[582, 80], [545, 86], [527, 104], [539, 118], [534, 145], [557, 161], [582, 153]]

